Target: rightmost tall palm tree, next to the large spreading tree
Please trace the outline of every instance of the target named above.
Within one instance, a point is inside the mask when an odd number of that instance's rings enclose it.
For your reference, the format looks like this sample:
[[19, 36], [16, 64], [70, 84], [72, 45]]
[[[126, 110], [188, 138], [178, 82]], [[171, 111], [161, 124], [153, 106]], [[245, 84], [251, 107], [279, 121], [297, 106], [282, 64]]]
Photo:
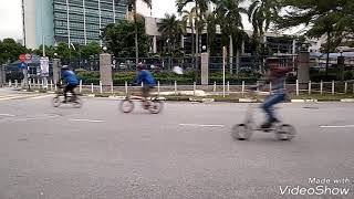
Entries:
[[266, 42], [264, 33], [280, 11], [278, 6], [278, 1], [274, 0], [253, 0], [248, 9], [247, 14], [253, 27], [253, 38], [261, 44]]

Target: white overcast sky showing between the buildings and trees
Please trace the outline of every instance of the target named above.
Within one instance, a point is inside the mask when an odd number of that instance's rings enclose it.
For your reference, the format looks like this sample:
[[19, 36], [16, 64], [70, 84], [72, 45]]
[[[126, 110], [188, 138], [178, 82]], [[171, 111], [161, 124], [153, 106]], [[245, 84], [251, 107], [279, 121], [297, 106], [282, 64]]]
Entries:
[[[0, 39], [22, 39], [21, 0], [0, 0]], [[176, 13], [175, 0], [153, 0], [153, 15], [163, 18], [165, 13]], [[244, 29], [251, 25], [243, 19]]]

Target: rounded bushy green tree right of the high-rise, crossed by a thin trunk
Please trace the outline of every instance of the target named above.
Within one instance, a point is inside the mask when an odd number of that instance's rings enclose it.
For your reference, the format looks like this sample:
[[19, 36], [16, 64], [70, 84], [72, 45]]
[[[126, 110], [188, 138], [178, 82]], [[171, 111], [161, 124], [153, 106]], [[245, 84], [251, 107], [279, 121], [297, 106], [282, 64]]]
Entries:
[[135, 25], [137, 25], [137, 39], [139, 41], [138, 49], [140, 54], [147, 55], [149, 40], [145, 32], [144, 21], [138, 21], [137, 24], [126, 20], [119, 20], [115, 24], [108, 24], [103, 30], [103, 40], [107, 43], [107, 49], [116, 57], [134, 57]]

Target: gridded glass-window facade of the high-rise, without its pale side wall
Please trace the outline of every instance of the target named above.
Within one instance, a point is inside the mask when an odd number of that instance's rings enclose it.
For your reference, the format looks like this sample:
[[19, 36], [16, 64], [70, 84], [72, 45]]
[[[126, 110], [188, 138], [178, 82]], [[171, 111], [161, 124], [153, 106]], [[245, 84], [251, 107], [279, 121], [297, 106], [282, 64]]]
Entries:
[[53, 0], [56, 42], [101, 42], [101, 30], [124, 19], [126, 0]]

